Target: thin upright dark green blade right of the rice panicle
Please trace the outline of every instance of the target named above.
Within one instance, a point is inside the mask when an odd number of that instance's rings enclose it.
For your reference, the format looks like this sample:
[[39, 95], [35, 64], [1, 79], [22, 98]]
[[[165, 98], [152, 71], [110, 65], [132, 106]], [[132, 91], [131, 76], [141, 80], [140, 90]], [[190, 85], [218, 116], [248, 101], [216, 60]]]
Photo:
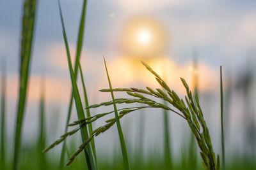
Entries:
[[222, 67], [220, 66], [220, 116], [221, 116], [221, 153], [222, 153], [222, 169], [225, 170], [225, 141], [223, 127], [223, 82]]

